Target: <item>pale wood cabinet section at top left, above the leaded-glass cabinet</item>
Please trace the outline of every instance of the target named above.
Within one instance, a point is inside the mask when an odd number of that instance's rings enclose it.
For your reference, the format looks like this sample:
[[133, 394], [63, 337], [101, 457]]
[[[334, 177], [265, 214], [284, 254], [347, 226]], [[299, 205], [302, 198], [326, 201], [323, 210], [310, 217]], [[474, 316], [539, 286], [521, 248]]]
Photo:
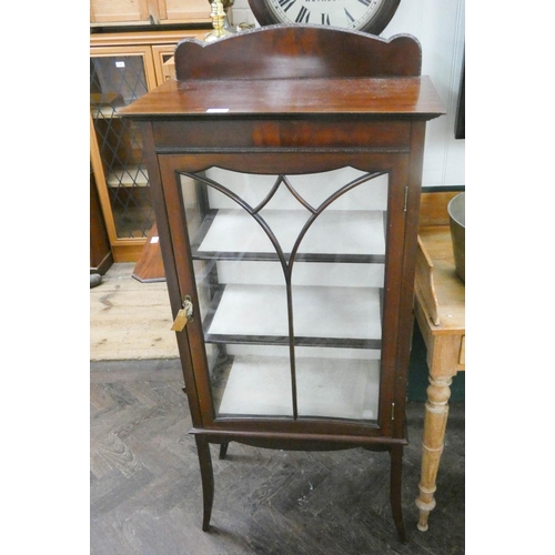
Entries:
[[91, 0], [91, 24], [210, 23], [208, 0]]

